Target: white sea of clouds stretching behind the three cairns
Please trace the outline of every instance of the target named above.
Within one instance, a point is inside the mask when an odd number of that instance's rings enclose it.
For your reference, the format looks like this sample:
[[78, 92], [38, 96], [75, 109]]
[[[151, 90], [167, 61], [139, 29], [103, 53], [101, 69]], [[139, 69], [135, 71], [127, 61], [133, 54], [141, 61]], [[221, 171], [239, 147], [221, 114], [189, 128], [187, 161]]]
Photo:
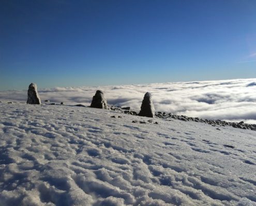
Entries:
[[[56, 87], [39, 89], [38, 93], [42, 101], [89, 106], [98, 89], [104, 92], [109, 105], [131, 107], [134, 111], [140, 110], [144, 94], [150, 92], [156, 111], [256, 124], [256, 79]], [[26, 91], [0, 91], [1, 100], [26, 101], [26, 98]]]

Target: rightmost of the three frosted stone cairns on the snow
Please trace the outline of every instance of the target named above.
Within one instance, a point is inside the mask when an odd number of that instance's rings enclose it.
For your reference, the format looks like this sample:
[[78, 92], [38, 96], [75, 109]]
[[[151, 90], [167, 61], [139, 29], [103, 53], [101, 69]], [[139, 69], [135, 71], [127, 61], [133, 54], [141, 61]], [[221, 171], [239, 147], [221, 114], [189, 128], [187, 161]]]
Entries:
[[155, 117], [152, 95], [149, 92], [144, 95], [139, 116]]

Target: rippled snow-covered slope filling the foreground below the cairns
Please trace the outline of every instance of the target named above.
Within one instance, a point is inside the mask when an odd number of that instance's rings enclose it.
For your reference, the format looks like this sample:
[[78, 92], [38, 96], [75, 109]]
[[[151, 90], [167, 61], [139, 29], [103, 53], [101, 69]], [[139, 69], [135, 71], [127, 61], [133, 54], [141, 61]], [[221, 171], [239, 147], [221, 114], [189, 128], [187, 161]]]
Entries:
[[1, 206], [256, 205], [255, 131], [24, 102], [0, 112]]

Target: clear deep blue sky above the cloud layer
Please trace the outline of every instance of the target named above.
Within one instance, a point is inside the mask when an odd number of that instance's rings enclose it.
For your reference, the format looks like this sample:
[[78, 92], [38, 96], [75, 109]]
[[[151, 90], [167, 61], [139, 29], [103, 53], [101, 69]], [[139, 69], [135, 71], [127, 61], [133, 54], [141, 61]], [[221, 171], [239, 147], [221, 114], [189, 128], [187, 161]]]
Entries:
[[0, 1], [0, 90], [256, 77], [256, 1]]

